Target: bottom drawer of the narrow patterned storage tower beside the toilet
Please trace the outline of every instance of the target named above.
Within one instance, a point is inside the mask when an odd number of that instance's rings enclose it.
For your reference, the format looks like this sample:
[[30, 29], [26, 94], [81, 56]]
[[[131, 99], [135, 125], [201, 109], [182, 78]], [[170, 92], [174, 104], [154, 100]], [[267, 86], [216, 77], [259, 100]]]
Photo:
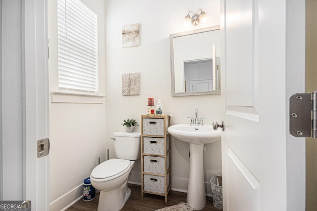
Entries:
[[[169, 173], [167, 174], [167, 185], [169, 186]], [[165, 177], [143, 174], [143, 190], [154, 193], [165, 194]]]

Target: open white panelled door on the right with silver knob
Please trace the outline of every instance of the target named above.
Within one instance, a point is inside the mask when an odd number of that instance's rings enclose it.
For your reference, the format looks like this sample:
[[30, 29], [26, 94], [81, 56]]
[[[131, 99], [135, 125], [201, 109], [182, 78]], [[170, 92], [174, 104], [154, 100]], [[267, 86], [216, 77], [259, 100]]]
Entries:
[[221, 0], [224, 211], [305, 210], [305, 141], [288, 132], [304, 91], [305, 1]]

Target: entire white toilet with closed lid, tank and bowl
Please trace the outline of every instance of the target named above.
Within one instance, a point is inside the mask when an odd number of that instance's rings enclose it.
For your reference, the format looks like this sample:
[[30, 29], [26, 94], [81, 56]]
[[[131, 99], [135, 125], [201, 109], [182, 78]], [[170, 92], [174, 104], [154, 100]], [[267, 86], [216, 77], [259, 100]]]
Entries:
[[127, 187], [130, 171], [141, 157], [141, 132], [114, 132], [117, 159], [98, 165], [90, 174], [91, 184], [100, 190], [98, 211], [119, 211], [131, 195]]

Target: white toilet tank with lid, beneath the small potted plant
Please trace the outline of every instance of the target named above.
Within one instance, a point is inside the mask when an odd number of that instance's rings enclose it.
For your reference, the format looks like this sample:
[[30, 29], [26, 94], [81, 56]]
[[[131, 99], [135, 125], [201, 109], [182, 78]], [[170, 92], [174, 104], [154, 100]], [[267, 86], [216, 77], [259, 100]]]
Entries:
[[141, 132], [114, 132], [114, 151], [117, 158], [135, 161], [141, 157]]

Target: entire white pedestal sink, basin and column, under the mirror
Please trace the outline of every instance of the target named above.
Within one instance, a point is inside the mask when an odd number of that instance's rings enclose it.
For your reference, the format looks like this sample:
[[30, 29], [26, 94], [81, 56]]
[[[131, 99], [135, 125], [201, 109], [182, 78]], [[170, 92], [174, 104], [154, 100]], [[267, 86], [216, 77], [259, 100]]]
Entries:
[[221, 128], [214, 130], [211, 125], [191, 126], [190, 124], [173, 125], [168, 132], [180, 141], [189, 143], [190, 169], [187, 203], [195, 210], [206, 206], [204, 182], [204, 144], [221, 140]]

